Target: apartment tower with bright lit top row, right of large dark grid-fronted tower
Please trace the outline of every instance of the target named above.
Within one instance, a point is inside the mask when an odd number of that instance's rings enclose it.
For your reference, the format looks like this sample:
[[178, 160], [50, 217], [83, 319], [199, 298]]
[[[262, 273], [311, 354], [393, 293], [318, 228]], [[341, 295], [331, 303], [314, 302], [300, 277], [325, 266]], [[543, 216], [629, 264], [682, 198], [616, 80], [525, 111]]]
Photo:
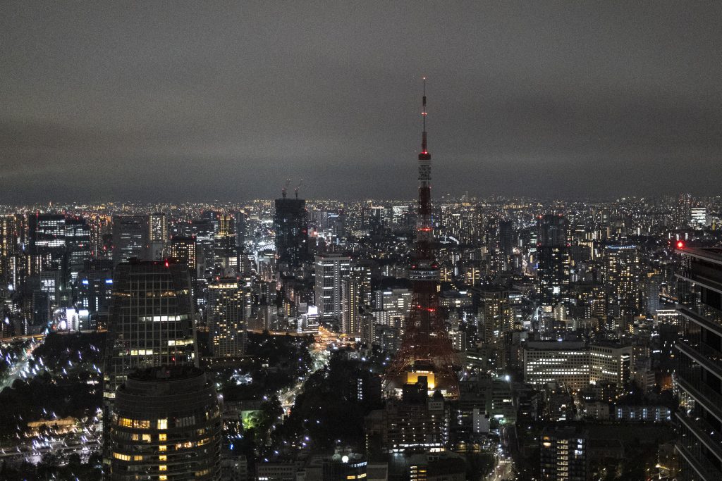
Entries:
[[241, 356], [246, 322], [251, 316], [251, 290], [239, 278], [218, 278], [208, 285], [208, 327], [213, 356]]

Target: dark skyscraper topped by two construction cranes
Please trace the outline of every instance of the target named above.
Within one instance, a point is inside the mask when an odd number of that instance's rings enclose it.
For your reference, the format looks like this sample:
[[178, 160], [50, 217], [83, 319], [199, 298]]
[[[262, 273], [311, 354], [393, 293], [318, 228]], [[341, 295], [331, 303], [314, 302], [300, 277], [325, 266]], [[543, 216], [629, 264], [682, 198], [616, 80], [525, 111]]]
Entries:
[[274, 229], [279, 271], [292, 273], [308, 257], [306, 201], [287, 198], [284, 189], [282, 198], [276, 199]]

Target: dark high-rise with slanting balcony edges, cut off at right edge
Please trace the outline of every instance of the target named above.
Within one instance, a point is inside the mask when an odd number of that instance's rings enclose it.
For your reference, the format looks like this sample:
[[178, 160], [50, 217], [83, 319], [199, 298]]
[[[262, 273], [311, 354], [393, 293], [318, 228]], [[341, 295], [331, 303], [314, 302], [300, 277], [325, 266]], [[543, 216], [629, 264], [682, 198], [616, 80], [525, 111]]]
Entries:
[[722, 250], [682, 247], [677, 271], [680, 480], [722, 479]]

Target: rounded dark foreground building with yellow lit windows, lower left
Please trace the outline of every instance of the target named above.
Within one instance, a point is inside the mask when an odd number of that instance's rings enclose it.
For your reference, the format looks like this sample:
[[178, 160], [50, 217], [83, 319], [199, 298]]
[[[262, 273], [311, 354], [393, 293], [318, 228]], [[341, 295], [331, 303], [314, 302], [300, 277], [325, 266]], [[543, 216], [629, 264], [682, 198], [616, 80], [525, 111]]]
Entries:
[[110, 480], [218, 480], [222, 420], [201, 369], [136, 371], [118, 388], [109, 421]]

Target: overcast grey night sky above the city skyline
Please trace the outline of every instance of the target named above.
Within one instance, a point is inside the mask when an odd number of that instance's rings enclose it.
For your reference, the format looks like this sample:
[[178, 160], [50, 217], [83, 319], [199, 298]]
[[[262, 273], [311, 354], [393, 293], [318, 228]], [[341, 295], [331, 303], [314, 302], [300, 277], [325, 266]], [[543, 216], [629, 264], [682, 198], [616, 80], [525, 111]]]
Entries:
[[0, 5], [0, 203], [722, 185], [720, 2]]

